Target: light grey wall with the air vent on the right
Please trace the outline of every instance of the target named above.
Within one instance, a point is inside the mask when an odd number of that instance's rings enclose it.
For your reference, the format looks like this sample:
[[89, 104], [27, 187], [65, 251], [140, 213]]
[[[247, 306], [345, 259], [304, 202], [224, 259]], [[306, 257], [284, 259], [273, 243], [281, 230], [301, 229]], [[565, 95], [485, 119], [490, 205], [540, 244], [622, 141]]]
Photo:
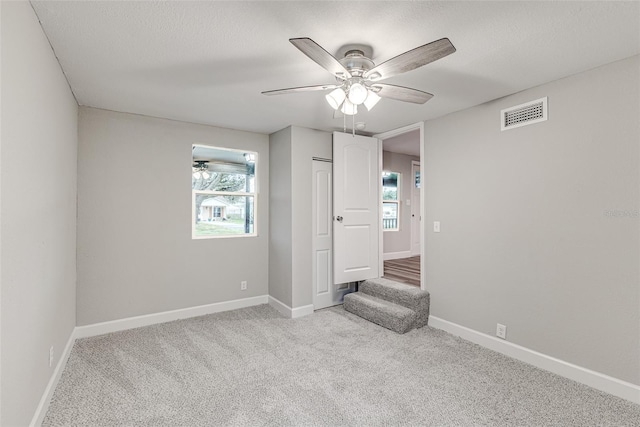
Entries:
[[[636, 56], [426, 122], [434, 316], [640, 384], [639, 75]], [[543, 96], [548, 121], [500, 131]]]

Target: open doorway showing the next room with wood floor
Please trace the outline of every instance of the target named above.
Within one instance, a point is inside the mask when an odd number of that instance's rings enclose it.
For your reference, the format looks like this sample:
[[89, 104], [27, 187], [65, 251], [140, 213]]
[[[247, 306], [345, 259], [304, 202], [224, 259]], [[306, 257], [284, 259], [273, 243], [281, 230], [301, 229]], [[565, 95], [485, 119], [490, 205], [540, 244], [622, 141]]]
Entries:
[[382, 277], [424, 289], [422, 131], [418, 123], [376, 137], [382, 140]]

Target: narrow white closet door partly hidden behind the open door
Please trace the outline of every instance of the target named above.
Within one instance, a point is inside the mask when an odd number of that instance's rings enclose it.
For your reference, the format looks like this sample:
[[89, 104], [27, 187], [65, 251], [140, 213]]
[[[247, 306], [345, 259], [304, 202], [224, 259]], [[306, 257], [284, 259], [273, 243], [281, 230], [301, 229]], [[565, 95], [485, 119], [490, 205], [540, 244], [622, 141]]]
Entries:
[[332, 193], [331, 163], [314, 160], [312, 166], [313, 188], [311, 196], [312, 212], [312, 289], [313, 308], [331, 307], [340, 304], [348, 286], [333, 284], [332, 256]]

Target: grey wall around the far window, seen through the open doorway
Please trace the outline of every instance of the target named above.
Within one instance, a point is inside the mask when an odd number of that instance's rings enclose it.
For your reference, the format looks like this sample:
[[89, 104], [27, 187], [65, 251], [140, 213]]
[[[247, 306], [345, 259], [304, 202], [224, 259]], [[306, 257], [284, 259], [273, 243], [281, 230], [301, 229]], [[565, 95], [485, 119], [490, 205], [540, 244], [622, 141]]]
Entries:
[[[419, 141], [416, 142], [418, 145]], [[411, 162], [420, 162], [420, 157], [407, 154], [382, 152], [382, 169], [389, 172], [399, 172], [400, 178], [400, 229], [398, 231], [383, 232], [383, 251], [385, 254], [397, 254], [411, 251], [411, 206], [407, 200], [411, 199], [413, 177]]]

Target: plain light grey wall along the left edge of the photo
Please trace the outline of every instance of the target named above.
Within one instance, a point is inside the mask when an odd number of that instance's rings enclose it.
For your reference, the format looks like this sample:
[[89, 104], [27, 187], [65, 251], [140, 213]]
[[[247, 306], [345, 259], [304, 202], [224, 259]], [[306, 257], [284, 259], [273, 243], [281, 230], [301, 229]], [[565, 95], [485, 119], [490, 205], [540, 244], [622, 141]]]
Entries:
[[0, 424], [15, 426], [31, 421], [75, 326], [78, 107], [31, 5], [1, 10]]

